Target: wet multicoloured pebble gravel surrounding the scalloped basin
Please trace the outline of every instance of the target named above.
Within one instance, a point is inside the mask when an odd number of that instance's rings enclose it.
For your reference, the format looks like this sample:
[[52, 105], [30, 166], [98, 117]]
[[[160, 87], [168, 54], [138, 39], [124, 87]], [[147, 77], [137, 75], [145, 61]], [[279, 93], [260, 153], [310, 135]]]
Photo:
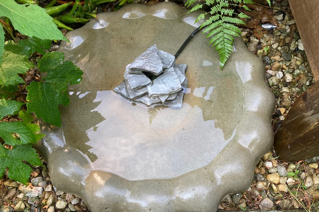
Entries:
[[[110, 11], [110, 8], [112, 4], [108, 3], [98, 9]], [[272, 8], [278, 26], [264, 31], [260, 39], [252, 30], [242, 28], [242, 38], [249, 50], [264, 62], [266, 81], [277, 99], [272, 119], [276, 133], [293, 102], [313, 84], [313, 75], [292, 13], [286, 12], [291, 11], [288, 1], [276, 0]], [[57, 47], [55, 44], [51, 50]], [[308, 210], [312, 206], [313, 212], [319, 212], [319, 202], [314, 202], [319, 199], [318, 161], [319, 157], [293, 163], [278, 161], [271, 150], [258, 162], [250, 188], [226, 195], [219, 209]], [[27, 186], [8, 179], [7, 175], [0, 178], [0, 211], [89, 211], [78, 196], [54, 187], [46, 165], [33, 167], [31, 175]]]

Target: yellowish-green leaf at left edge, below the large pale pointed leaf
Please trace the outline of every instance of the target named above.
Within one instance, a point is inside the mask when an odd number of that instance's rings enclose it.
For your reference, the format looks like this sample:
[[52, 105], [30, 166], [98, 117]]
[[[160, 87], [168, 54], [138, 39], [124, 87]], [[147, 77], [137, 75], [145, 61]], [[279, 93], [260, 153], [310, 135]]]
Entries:
[[33, 66], [26, 56], [4, 50], [0, 65], [0, 84], [9, 86], [25, 83], [18, 73], [24, 74]]

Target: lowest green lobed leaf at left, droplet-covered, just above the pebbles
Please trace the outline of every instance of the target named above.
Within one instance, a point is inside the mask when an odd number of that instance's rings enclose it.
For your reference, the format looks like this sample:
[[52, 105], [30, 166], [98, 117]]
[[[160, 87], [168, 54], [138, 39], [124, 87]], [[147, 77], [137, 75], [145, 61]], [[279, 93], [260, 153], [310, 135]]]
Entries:
[[[0, 147], [3, 148], [4, 147]], [[3, 149], [0, 152], [3, 152]], [[27, 184], [32, 168], [25, 164], [26, 161], [35, 166], [42, 166], [41, 160], [30, 144], [19, 145], [11, 149], [4, 149], [6, 156], [0, 158], [0, 176], [3, 176], [8, 167], [8, 177], [12, 180]]]

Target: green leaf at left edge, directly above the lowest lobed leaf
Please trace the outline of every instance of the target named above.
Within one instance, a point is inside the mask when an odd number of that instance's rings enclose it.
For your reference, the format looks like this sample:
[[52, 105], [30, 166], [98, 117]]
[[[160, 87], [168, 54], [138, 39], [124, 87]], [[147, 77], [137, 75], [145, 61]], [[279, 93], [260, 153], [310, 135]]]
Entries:
[[[11, 133], [19, 134], [20, 139]], [[0, 122], [0, 137], [11, 146], [37, 142], [30, 128], [21, 121]]]

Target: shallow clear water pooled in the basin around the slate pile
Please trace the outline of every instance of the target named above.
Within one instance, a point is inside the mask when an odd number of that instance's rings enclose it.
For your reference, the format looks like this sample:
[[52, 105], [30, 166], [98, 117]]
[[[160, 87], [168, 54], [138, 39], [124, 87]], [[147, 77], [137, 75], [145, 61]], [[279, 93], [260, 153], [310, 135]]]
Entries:
[[[174, 54], [194, 31], [186, 20], [169, 20], [174, 31], [158, 27], [168, 24], [162, 9], [147, 16], [156, 25], [145, 28], [134, 19], [143, 15], [138, 10], [123, 15], [125, 23], [134, 25], [129, 34], [117, 24], [95, 32], [95, 22], [89, 23], [90, 31], [81, 36], [90, 39], [62, 49], [84, 72], [81, 84], [70, 86], [71, 105], [62, 107], [63, 132], [67, 145], [87, 155], [93, 170], [131, 180], [172, 178], [206, 166], [234, 138], [245, 100], [243, 83], [249, 78], [220, 71], [215, 63], [217, 69], [212, 62], [218, 55], [204, 38], [194, 37], [176, 61], [188, 65], [182, 108], [132, 105], [111, 91], [122, 81], [125, 65], [153, 44]], [[185, 34], [176, 36], [176, 31]]]

